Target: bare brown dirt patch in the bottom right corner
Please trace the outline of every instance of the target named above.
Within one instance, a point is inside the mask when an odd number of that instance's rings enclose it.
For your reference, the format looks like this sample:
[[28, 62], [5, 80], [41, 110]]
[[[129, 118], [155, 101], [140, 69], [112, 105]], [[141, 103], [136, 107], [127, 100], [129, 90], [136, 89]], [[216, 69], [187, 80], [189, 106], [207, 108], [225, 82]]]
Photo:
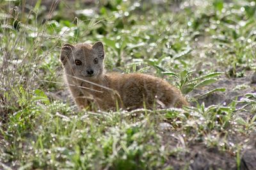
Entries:
[[[165, 127], [165, 128], [164, 128]], [[230, 136], [236, 143], [248, 141], [247, 147], [241, 151], [240, 158], [232, 152], [223, 152], [218, 147], [207, 147], [198, 141], [193, 143], [183, 140], [179, 132], [171, 131], [168, 123], [160, 124], [160, 133], [163, 139], [164, 150], [168, 150], [171, 155], [166, 166], [172, 165], [173, 169], [256, 169], [256, 134], [252, 134], [250, 139], [244, 136]], [[177, 150], [177, 148], [179, 148]], [[241, 164], [237, 168], [237, 161]]]

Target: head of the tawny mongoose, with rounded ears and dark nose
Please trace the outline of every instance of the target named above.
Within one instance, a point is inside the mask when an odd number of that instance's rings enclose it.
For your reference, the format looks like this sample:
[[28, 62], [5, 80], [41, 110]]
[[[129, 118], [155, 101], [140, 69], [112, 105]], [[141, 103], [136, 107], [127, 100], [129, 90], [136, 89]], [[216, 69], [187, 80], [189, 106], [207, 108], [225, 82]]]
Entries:
[[104, 47], [100, 41], [94, 45], [65, 44], [61, 48], [60, 60], [66, 74], [90, 79], [97, 78], [104, 73], [104, 55]]

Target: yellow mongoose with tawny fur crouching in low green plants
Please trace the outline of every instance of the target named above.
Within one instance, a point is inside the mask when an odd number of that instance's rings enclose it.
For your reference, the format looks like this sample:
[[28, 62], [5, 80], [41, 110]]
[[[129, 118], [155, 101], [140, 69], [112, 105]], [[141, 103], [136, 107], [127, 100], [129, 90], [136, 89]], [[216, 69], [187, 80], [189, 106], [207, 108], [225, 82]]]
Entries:
[[133, 110], [188, 105], [178, 89], [160, 78], [140, 73], [105, 73], [104, 57], [100, 41], [94, 45], [65, 44], [61, 49], [67, 83], [80, 109], [96, 106], [100, 110], [116, 107]]

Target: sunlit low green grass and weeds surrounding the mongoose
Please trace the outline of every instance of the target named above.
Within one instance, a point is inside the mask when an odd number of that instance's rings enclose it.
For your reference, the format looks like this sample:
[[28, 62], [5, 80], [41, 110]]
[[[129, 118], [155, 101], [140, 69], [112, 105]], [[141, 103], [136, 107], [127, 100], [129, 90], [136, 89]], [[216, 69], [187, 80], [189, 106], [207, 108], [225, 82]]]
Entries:
[[254, 1], [175, 2], [61, 1], [50, 10], [0, 1], [0, 169], [189, 169], [194, 146], [239, 169], [256, 131], [253, 93], [228, 105], [187, 96], [195, 105], [179, 110], [97, 113], [65, 96], [64, 43], [102, 41], [108, 71], [154, 74], [184, 95], [256, 69]]

